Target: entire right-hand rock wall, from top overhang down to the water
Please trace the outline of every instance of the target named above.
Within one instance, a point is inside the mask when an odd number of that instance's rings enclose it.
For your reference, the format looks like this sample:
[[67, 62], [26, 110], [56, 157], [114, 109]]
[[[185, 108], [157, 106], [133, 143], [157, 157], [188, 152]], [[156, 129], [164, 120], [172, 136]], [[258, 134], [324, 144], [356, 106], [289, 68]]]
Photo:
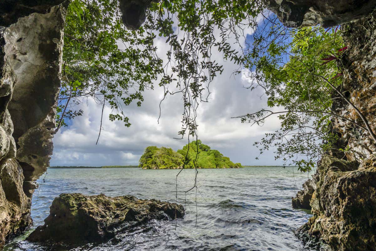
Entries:
[[[376, 11], [374, 1], [265, 1], [287, 26], [342, 24], [348, 47], [338, 65], [343, 73], [339, 90], [359, 109], [376, 131]], [[356, 6], [355, 6], [356, 5]], [[349, 23], [346, 23], [351, 21]], [[338, 94], [334, 94], [338, 97]], [[364, 125], [355, 109], [336, 99], [332, 111]], [[316, 178], [292, 198], [294, 207], [311, 207], [313, 217], [297, 235], [320, 250], [376, 250], [376, 142], [370, 133], [335, 117], [334, 145], [318, 166]], [[360, 163], [360, 166], [359, 166]], [[311, 197], [311, 199], [310, 199]], [[307, 201], [310, 199], [310, 205]]]

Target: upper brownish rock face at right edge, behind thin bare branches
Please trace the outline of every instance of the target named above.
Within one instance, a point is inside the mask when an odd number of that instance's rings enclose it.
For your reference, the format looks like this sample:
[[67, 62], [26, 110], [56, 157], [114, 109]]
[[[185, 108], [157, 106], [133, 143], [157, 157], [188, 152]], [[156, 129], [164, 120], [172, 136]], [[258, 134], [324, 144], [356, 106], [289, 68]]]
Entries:
[[[361, 111], [376, 132], [376, 11], [367, 18], [343, 26], [343, 39], [348, 47], [341, 58], [344, 79], [342, 91]], [[362, 123], [354, 108], [335, 102], [333, 111], [349, 120]], [[367, 130], [335, 118], [334, 129], [347, 142], [347, 160], [362, 160], [376, 152], [376, 144]]]

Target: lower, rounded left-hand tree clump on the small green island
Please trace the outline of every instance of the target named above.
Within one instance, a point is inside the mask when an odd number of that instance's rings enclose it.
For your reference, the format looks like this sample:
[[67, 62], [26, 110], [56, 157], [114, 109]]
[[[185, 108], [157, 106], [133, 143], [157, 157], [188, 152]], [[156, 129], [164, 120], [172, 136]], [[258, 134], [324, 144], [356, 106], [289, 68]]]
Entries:
[[143, 169], [175, 169], [183, 167], [184, 157], [171, 148], [148, 146], [138, 163]]

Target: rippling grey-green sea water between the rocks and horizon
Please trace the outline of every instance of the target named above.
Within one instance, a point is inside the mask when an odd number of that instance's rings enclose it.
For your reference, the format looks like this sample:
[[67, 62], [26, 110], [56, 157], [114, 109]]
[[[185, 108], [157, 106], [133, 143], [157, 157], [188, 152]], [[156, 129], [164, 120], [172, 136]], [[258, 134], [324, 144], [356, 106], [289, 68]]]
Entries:
[[[43, 224], [53, 198], [60, 193], [134, 195], [175, 202], [178, 172], [138, 168], [49, 169], [45, 183], [38, 180], [41, 186], [33, 196], [34, 225]], [[186, 208], [184, 219], [154, 221], [132, 233], [120, 234], [116, 241], [72, 250], [309, 250], [294, 230], [311, 215], [291, 208], [291, 196], [307, 180], [307, 173], [292, 167], [199, 169], [198, 189], [185, 193], [194, 186], [194, 176], [194, 170], [187, 169], [177, 178], [177, 202]], [[5, 250], [51, 250], [22, 239], [14, 240]]]

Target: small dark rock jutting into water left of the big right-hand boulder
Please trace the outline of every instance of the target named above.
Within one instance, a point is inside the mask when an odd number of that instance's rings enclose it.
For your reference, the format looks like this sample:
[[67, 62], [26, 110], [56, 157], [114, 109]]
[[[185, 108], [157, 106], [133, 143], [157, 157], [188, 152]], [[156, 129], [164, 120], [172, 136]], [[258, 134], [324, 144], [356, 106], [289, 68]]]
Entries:
[[291, 202], [293, 208], [304, 208], [311, 209], [312, 194], [317, 188], [316, 183], [318, 182], [318, 170], [312, 175], [312, 179], [308, 179], [303, 183], [303, 190], [297, 192], [295, 197], [291, 197]]

